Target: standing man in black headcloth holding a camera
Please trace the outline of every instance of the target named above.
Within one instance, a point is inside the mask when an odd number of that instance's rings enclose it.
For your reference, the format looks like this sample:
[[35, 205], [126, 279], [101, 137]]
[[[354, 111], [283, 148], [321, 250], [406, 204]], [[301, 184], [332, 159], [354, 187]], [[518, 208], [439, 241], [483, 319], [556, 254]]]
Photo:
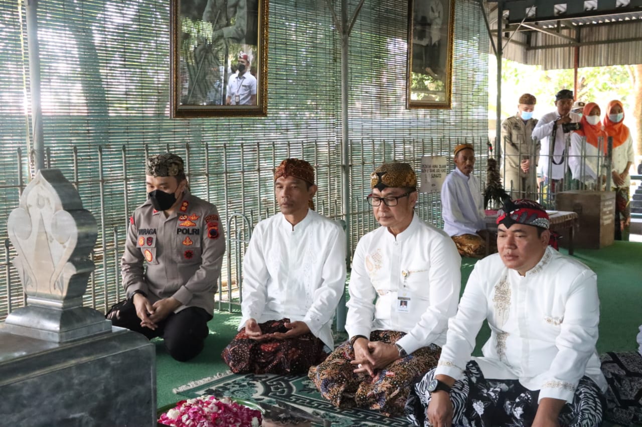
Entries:
[[[545, 114], [537, 122], [533, 137], [541, 140], [541, 159], [539, 167], [542, 177], [550, 183], [550, 193], [554, 193], [557, 185], [561, 185], [566, 170], [568, 153], [566, 153], [566, 136], [577, 128], [580, 116], [571, 113], [573, 108], [573, 91], [562, 89], [555, 95], [557, 110]], [[574, 123], [575, 125], [569, 125]], [[551, 142], [552, 141], [552, 142]]]

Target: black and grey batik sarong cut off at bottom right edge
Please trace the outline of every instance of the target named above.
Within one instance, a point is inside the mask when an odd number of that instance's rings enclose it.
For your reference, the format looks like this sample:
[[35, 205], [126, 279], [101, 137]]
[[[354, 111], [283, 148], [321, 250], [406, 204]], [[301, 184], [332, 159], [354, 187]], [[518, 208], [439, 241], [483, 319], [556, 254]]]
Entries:
[[642, 424], [642, 356], [609, 351], [600, 360], [609, 384], [604, 418], [621, 426]]

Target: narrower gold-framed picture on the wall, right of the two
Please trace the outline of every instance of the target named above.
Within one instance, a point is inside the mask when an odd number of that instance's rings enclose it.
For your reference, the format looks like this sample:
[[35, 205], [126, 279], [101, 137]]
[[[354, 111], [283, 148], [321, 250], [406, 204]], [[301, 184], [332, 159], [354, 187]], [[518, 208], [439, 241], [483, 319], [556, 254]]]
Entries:
[[407, 108], [451, 108], [455, 0], [409, 0]]

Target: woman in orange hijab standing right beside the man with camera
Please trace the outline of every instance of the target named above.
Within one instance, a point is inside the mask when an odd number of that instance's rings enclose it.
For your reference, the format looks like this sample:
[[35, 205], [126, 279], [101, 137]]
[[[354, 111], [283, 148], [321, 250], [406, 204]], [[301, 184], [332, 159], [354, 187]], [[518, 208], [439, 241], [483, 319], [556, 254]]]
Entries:
[[[589, 186], [595, 185], [598, 176], [603, 176], [603, 171], [598, 171], [598, 168], [602, 169], [607, 152], [606, 133], [602, 131], [600, 122], [601, 113], [600, 106], [596, 103], [587, 103], [580, 120], [582, 129], [571, 133], [568, 166], [574, 180]], [[605, 177], [602, 178], [603, 182]]]

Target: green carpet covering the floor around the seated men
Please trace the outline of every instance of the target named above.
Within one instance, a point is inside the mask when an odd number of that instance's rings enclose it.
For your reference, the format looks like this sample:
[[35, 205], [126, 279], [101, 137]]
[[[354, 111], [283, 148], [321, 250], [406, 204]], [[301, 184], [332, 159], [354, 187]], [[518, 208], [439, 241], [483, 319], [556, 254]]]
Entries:
[[[566, 253], [566, 249], [562, 249], [562, 253]], [[639, 310], [642, 301], [642, 243], [615, 242], [603, 249], [576, 249], [575, 258], [598, 274], [602, 313], [598, 352], [637, 349], [636, 335], [642, 323]], [[463, 284], [473, 271], [474, 263], [471, 258], [462, 258]], [[173, 360], [162, 343], [156, 342], [158, 407], [180, 399], [172, 389], [227, 371], [220, 355], [236, 335], [239, 321], [239, 314], [216, 312], [209, 322], [210, 337], [205, 340], [204, 351], [187, 363]], [[489, 335], [488, 327], [484, 326], [477, 339], [476, 355], [480, 354], [479, 349]]]

